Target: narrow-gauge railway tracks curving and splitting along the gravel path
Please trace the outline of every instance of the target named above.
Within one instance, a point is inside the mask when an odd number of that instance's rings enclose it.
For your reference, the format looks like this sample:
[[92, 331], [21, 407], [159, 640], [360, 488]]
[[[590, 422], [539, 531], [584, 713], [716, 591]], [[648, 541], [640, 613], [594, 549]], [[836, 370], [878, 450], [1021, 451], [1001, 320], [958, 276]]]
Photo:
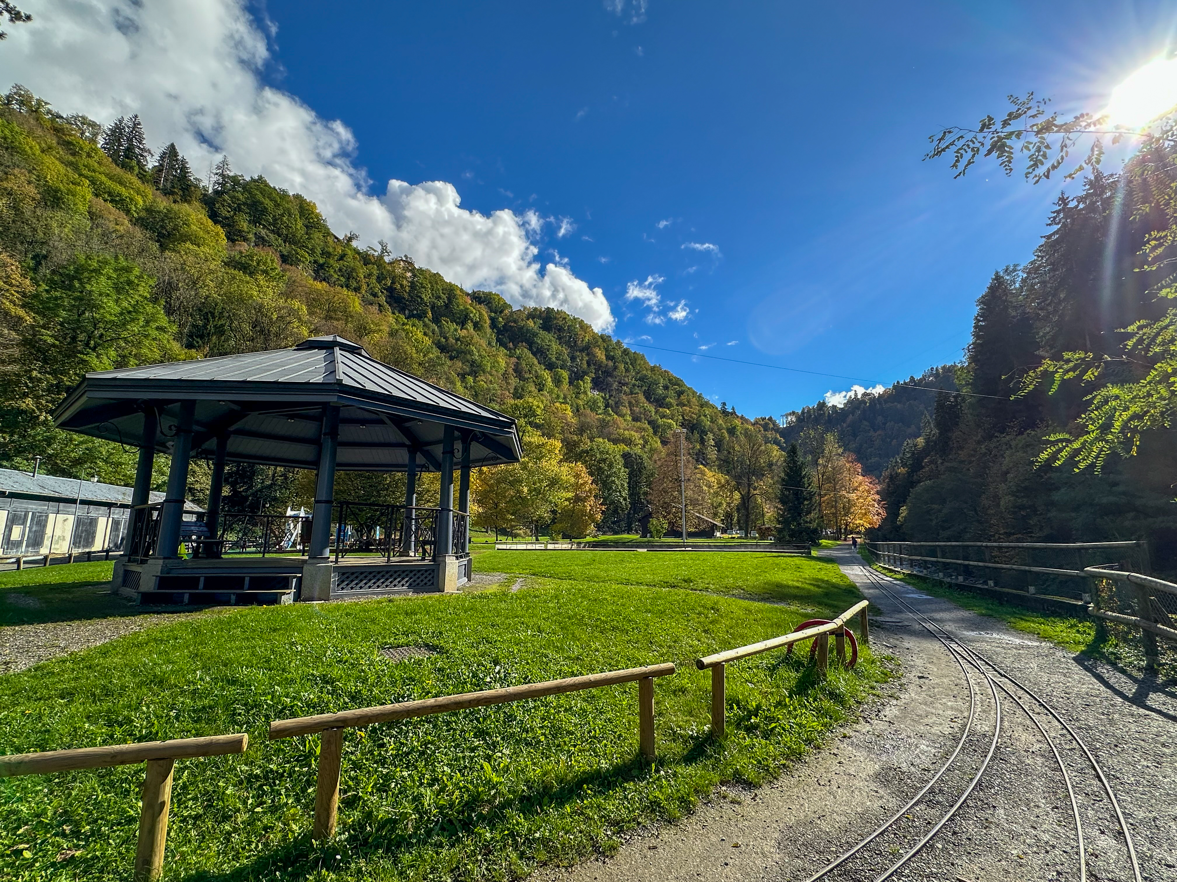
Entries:
[[886, 821], [884, 821], [875, 830], [872, 830], [863, 840], [860, 840], [853, 848], [849, 849], [847, 851], [845, 851], [844, 854], [842, 854], [840, 856], [827, 863], [820, 870], [814, 873], [812, 876], [810, 876], [809, 880], [806, 880], [806, 882], [817, 882], [817, 880], [822, 880], [830, 876], [830, 874], [834, 873], [834, 870], [839, 868], [844, 868], [846, 870], [853, 869], [855, 863], [862, 862], [863, 858], [866, 857], [866, 855], [864, 855], [864, 849], [866, 849], [869, 846], [878, 841], [879, 837], [882, 837], [889, 830], [892, 830], [895, 826], [900, 821], [900, 818], [909, 816], [907, 813], [918, 803], [923, 802], [927, 793], [933, 788], [933, 786], [943, 779], [945, 773], [947, 773], [951, 768], [953, 768], [955, 764], [958, 763], [958, 761], [960, 760], [962, 748], [969, 740], [969, 736], [973, 730], [977, 719], [977, 690], [972, 680], [973, 675], [970, 674], [970, 670], [975, 671], [984, 680], [985, 684], [989, 686], [989, 691], [993, 700], [993, 734], [992, 734], [992, 740], [990, 742], [989, 751], [985, 754], [984, 759], [979, 763], [976, 771], [971, 775], [969, 783], [965, 786], [960, 796], [953, 802], [953, 804], [947, 809], [947, 811], [939, 814], [938, 820], [936, 820], [931, 824], [927, 831], [913, 846], [911, 846], [906, 851], [904, 851], [904, 854], [898, 860], [891, 862], [880, 873], [873, 870], [866, 871], [867, 868], [862, 867], [859, 868], [859, 871], [852, 876], [852, 878], [856, 880], [873, 878], [875, 882], [885, 882], [885, 880], [891, 878], [896, 873], [902, 870], [917, 854], [919, 854], [920, 850], [923, 850], [923, 848], [929, 842], [932, 841], [932, 838], [944, 828], [944, 826], [952, 818], [952, 816], [957, 813], [957, 810], [965, 803], [969, 795], [973, 791], [973, 789], [977, 787], [977, 784], [984, 776], [985, 771], [988, 770], [990, 760], [993, 756], [993, 751], [1000, 737], [1002, 702], [998, 696], [998, 690], [1000, 690], [1023, 711], [1023, 714], [1030, 720], [1030, 722], [1033, 723], [1038, 734], [1043, 737], [1046, 746], [1049, 747], [1050, 753], [1055, 759], [1055, 763], [1058, 766], [1059, 774], [1066, 788], [1068, 797], [1071, 806], [1071, 815], [1075, 824], [1075, 843], [1076, 843], [1076, 855], [1078, 864], [1077, 875], [1079, 882], [1086, 882], [1088, 878], [1086, 847], [1084, 842], [1083, 822], [1080, 818], [1079, 804], [1075, 794], [1071, 771], [1068, 769], [1068, 766], [1064, 762], [1063, 756], [1058, 750], [1058, 746], [1056, 744], [1055, 739], [1052, 739], [1050, 734], [1046, 731], [1045, 727], [1042, 724], [1042, 721], [1038, 719], [1038, 716], [1031, 713], [1030, 708], [1026, 707], [1026, 703], [1018, 697], [1018, 693], [1025, 696], [1026, 700], [1032, 706], [1037, 704], [1046, 714], [1049, 714], [1063, 729], [1065, 736], [1069, 737], [1070, 741], [1075, 743], [1075, 746], [1085, 757], [1086, 763], [1090, 766], [1095, 776], [1098, 779], [1099, 786], [1108, 795], [1108, 800], [1116, 815], [1116, 822], [1119, 826], [1121, 833], [1123, 834], [1124, 837], [1124, 844], [1126, 847], [1129, 863], [1131, 864], [1131, 876], [1130, 877], [1125, 876], [1125, 878], [1131, 878], [1133, 880], [1133, 882], [1142, 882], [1141, 868], [1136, 857], [1136, 849], [1132, 843], [1132, 834], [1128, 827], [1126, 820], [1124, 818], [1124, 814], [1119, 807], [1119, 802], [1116, 799], [1111, 784], [1109, 783], [1108, 777], [1104, 775], [1104, 771], [1100, 768], [1095, 755], [1088, 748], [1086, 743], [1075, 731], [1075, 729], [1037, 693], [1028, 688], [1025, 684], [1012, 677], [1010, 674], [1008, 674], [991, 660], [985, 657], [983, 654], [973, 649], [971, 646], [964, 643], [947, 629], [945, 629], [936, 621], [924, 615], [920, 610], [916, 609], [913, 606], [911, 606], [902, 597], [899, 597], [889, 587], [889, 583], [891, 583], [892, 580], [876, 573], [873, 569], [869, 567], [864, 566], [863, 569], [866, 574], [870, 584], [873, 588], [887, 595], [887, 597], [891, 599], [904, 612], [906, 612], [916, 621], [916, 623], [918, 623], [932, 637], [939, 641], [947, 650], [947, 653], [952, 656], [952, 659], [957, 662], [957, 664], [960, 667], [960, 671], [964, 675], [969, 687], [969, 716], [967, 720], [965, 721], [965, 724], [960, 734], [960, 739], [957, 742], [956, 748], [947, 756], [947, 759], [940, 763], [939, 768], [927, 781], [927, 783], [925, 783], [924, 787], [903, 808], [892, 814]]

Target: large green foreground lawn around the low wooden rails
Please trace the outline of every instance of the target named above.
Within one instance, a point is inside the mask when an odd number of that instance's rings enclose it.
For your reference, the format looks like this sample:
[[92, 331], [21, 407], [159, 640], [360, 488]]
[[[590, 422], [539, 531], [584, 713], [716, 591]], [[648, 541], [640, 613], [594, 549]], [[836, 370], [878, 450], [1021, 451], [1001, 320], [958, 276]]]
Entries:
[[[497, 554], [481, 568], [507, 568]], [[500, 878], [570, 863], [613, 849], [621, 830], [683, 815], [722, 781], [779, 771], [887, 676], [869, 653], [825, 683], [805, 653], [742, 661], [729, 669], [730, 734], [716, 744], [710, 677], [692, 660], [807, 616], [621, 583], [640, 577], [632, 567], [647, 556], [673, 567], [669, 554], [613, 553], [605, 561], [618, 572], [599, 561], [592, 575], [530, 580], [516, 593], [244, 608], [139, 632], [0, 676], [0, 750], [250, 733], [244, 756], [177, 763], [166, 878]], [[697, 574], [693, 587], [749, 590], [742, 579], [759, 573], [764, 595], [784, 597], [804, 576], [792, 596], [805, 603], [834, 609], [855, 597], [827, 564], [754, 556], [758, 569], [745, 560], [753, 555], [714, 555], [743, 575]], [[712, 555], [690, 557], [718, 567]], [[551, 559], [546, 569], [563, 573]], [[380, 654], [420, 644], [438, 654], [399, 663]], [[681, 673], [657, 682], [654, 766], [638, 755], [632, 684], [348, 731], [340, 835], [321, 847], [308, 838], [318, 739], [266, 740], [275, 719], [663, 661]], [[124, 878], [141, 780], [141, 766], [0, 780], [0, 875]]]

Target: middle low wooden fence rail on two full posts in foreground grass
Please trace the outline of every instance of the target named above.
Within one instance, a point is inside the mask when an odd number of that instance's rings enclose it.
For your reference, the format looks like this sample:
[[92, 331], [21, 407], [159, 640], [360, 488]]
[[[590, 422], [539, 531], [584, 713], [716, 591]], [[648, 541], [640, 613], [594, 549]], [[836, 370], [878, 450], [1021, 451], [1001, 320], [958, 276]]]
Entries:
[[271, 739], [290, 739], [297, 735], [321, 733], [319, 747], [319, 774], [314, 796], [315, 840], [330, 838], [335, 833], [339, 815], [339, 777], [343, 773], [344, 729], [353, 729], [372, 723], [384, 723], [394, 720], [410, 720], [417, 716], [445, 714], [465, 708], [480, 708], [490, 704], [506, 704], [512, 701], [540, 699], [546, 695], [597, 689], [617, 683], [638, 682], [638, 727], [641, 754], [654, 759], [654, 677], [674, 673], [674, 664], [651, 664], [645, 668], [610, 670], [603, 674], [588, 674], [565, 680], [550, 680], [544, 683], [526, 683], [508, 686], [503, 689], [487, 689], [479, 693], [445, 695], [439, 699], [405, 701], [399, 704], [385, 704], [375, 708], [341, 710], [334, 714], [318, 714], [294, 720], [275, 720], [270, 724]]

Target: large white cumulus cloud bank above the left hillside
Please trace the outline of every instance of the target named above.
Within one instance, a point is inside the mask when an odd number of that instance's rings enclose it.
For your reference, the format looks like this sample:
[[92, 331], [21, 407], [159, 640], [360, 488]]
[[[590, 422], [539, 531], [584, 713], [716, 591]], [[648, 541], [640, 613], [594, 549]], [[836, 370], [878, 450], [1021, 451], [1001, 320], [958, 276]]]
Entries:
[[[598, 330], [614, 325], [600, 288], [538, 260], [534, 212], [461, 208], [452, 183], [391, 180], [380, 195], [353, 158], [351, 129], [324, 120], [260, 76], [266, 38], [244, 0], [56, 0], [9, 28], [0, 82], [21, 82], [64, 113], [99, 122], [138, 113], [153, 145], [175, 141], [201, 174], [227, 154], [233, 169], [302, 193], [339, 233], [388, 242], [465, 288], [517, 306], [552, 306]], [[618, 11], [637, 14], [645, 4]], [[561, 222], [563, 227], [563, 222]], [[559, 232], [559, 230], [558, 230]], [[566, 232], [571, 232], [567, 229]]]

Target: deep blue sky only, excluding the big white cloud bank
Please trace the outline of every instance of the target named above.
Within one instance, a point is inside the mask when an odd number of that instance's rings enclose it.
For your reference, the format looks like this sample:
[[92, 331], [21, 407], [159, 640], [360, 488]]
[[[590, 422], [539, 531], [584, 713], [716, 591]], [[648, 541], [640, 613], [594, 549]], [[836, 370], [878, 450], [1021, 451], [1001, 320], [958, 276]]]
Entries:
[[[953, 180], [926, 136], [1030, 88], [1099, 106], [1173, 21], [1115, 2], [348, 6], [270, 2], [270, 75], [345, 120], [373, 179], [568, 218], [545, 248], [604, 289], [621, 339], [883, 382], [959, 358], [1059, 191]], [[651, 276], [661, 325], [625, 300]], [[849, 387], [649, 355], [747, 414]]]

